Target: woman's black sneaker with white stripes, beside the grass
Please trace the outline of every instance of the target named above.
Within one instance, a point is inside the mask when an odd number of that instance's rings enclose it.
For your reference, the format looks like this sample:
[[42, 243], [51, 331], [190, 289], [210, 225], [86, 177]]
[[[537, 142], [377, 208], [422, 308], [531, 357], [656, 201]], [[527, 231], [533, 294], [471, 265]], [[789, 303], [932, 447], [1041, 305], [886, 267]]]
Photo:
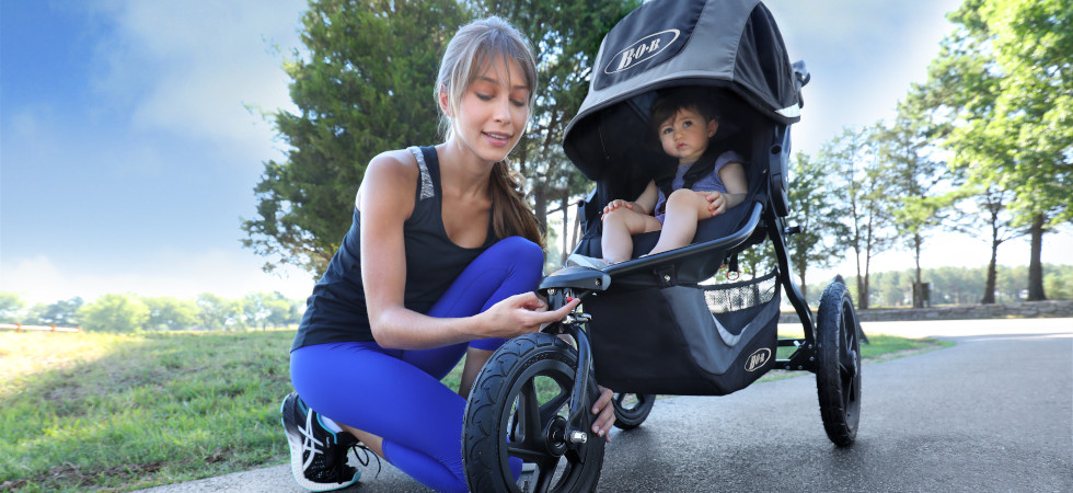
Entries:
[[347, 450], [357, 444], [357, 438], [325, 428], [321, 415], [296, 392], [284, 399], [279, 413], [290, 446], [290, 471], [299, 486], [332, 491], [361, 479], [361, 473], [347, 465]]

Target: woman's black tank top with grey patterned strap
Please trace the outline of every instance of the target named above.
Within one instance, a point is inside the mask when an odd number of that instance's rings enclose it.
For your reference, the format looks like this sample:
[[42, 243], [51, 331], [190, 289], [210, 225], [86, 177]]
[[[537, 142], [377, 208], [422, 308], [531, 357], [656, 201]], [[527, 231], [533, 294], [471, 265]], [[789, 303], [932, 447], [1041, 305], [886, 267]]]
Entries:
[[[411, 310], [427, 313], [466, 265], [498, 239], [489, 218], [483, 245], [468, 249], [454, 244], [443, 228], [436, 148], [412, 147], [408, 150], [417, 158], [420, 180], [414, 213], [403, 223], [406, 249], [404, 303]], [[343, 237], [343, 244], [305, 302], [305, 314], [291, 351], [314, 344], [373, 340], [361, 285], [360, 225], [361, 215], [355, 207], [350, 230]]]

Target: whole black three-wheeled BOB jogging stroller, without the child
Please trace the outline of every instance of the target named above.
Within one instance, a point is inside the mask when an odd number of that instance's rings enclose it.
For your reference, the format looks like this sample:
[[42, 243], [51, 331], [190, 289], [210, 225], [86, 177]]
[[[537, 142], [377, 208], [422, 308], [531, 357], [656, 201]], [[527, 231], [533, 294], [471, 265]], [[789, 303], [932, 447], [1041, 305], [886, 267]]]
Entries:
[[[749, 193], [701, 221], [689, 246], [636, 259], [659, 233], [639, 234], [634, 260], [564, 267], [542, 280], [553, 309], [570, 298], [582, 303], [563, 322], [508, 341], [482, 369], [462, 438], [471, 491], [595, 490], [604, 447], [589, 436], [597, 382], [619, 392], [616, 425], [630, 428], [644, 422], [656, 394], [725, 395], [771, 369], [808, 370], [817, 375], [828, 437], [842, 447], [853, 443], [863, 333], [850, 294], [837, 277], [814, 321], [791, 277], [785, 241], [794, 232], [785, 222], [789, 125], [799, 119], [808, 79], [804, 64], [789, 64], [759, 0], [655, 0], [604, 37], [588, 96], [563, 142], [596, 182], [578, 210], [585, 233], [574, 252], [601, 256], [603, 205], [633, 199], [668, 165], [648, 115], [672, 88], [700, 88], [722, 110], [714, 138], [745, 157]], [[765, 241], [777, 265], [770, 274], [709, 283], [739, 252]], [[777, 336], [781, 290], [804, 337]], [[778, 357], [778, 347], [787, 357]], [[524, 486], [516, 479], [520, 462], [533, 465]]]

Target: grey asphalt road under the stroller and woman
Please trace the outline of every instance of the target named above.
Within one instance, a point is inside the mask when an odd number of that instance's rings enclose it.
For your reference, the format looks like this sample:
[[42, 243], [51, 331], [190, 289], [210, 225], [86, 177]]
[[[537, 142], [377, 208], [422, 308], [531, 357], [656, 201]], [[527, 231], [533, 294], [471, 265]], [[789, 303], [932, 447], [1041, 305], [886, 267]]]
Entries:
[[[865, 365], [852, 447], [823, 433], [811, 376], [660, 399], [639, 428], [612, 433], [599, 490], [1073, 491], [1073, 319], [864, 329], [956, 345]], [[428, 491], [390, 465], [376, 473], [345, 491]], [[147, 491], [303, 490], [278, 466]]]

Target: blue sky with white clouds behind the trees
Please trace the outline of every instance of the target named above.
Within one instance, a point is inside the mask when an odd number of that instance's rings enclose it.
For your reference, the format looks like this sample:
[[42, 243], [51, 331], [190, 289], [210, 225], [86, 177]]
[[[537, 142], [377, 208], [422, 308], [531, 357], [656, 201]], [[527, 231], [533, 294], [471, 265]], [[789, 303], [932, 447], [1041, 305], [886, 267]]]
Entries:
[[[949, 30], [943, 15], [959, 2], [765, 3], [791, 57], [814, 74], [793, 130], [795, 146], [814, 152], [844, 125], [891, 115], [909, 83], [924, 79]], [[302, 272], [261, 272], [239, 229], [254, 215], [263, 162], [281, 156], [256, 108], [292, 107], [280, 67], [299, 46], [304, 0], [0, 5], [0, 290], [34, 302], [308, 295], [313, 279]], [[982, 242], [942, 244], [925, 266], [988, 261]], [[1045, 261], [1069, 263], [1058, 252], [1071, 246], [1069, 233], [1052, 237]], [[1000, 255], [1024, 264], [1027, 245]], [[911, 259], [877, 263], [908, 268]]]

